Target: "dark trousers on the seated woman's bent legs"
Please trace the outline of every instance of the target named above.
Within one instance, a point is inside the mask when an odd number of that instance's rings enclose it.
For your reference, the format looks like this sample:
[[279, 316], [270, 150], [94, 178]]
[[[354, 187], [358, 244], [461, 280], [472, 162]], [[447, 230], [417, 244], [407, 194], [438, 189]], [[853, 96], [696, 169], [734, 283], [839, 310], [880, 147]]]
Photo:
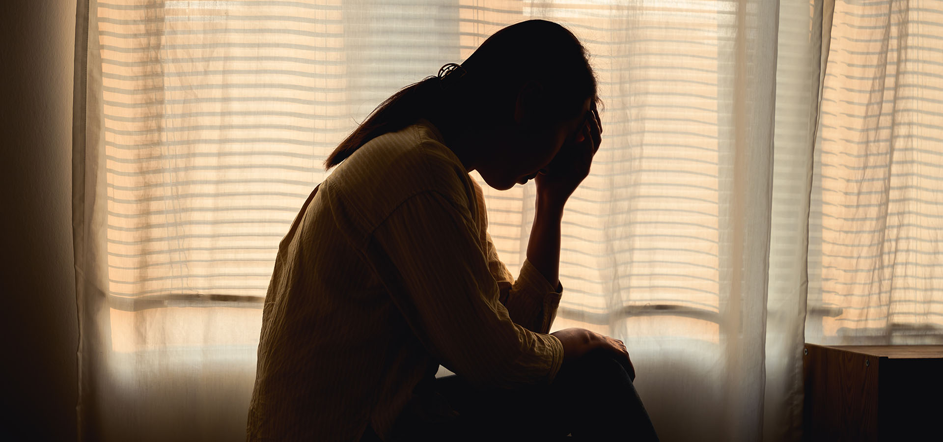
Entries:
[[[448, 376], [437, 379], [436, 388], [459, 416], [448, 422], [412, 425], [397, 439], [658, 440], [625, 368], [605, 354], [587, 355], [571, 364], [550, 385], [480, 388]], [[379, 439], [368, 428], [362, 440]]]

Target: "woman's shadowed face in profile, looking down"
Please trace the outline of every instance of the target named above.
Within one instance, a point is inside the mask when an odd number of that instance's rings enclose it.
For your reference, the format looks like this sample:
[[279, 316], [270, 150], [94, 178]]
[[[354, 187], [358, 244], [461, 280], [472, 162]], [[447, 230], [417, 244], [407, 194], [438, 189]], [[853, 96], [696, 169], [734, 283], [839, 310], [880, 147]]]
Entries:
[[562, 123], [539, 124], [537, 128], [518, 123], [497, 129], [493, 137], [488, 137], [494, 141], [484, 149], [488, 155], [476, 170], [488, 186], [499, 190], [534, 179], [565, 144], [579, 135], [591, 103], [587, 99], [577, 117]]

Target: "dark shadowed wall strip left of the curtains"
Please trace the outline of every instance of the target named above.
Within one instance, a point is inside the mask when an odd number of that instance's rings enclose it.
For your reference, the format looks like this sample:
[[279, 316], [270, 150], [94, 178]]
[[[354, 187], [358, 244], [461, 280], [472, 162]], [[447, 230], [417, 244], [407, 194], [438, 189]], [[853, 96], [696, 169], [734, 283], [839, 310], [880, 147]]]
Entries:
[[75, 0], [0, 2], [5, 440], [75, 440]]

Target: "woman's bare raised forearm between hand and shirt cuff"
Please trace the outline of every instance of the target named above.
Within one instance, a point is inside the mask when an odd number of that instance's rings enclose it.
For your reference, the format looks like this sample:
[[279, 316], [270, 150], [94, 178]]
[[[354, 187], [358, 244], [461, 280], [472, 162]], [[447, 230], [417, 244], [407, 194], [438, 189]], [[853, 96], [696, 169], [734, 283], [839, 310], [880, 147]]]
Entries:
[[538, 193], [534, 226], [527, 241], [527, 260], [554, 286], [559, 283], [560, 221], [565, 204], [558, 200]]

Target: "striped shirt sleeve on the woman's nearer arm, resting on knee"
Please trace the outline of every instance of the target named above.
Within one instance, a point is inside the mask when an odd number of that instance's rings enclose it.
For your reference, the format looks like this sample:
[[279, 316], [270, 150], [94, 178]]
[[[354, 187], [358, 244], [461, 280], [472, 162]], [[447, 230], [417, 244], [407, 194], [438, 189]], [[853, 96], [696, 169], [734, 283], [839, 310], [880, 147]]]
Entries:
[[468, 207], [436, 191], [414, 195], [373, 231], [367, 254], [440, 364], [479, 385], [554, 379], [563, 346], [510, 318]]

